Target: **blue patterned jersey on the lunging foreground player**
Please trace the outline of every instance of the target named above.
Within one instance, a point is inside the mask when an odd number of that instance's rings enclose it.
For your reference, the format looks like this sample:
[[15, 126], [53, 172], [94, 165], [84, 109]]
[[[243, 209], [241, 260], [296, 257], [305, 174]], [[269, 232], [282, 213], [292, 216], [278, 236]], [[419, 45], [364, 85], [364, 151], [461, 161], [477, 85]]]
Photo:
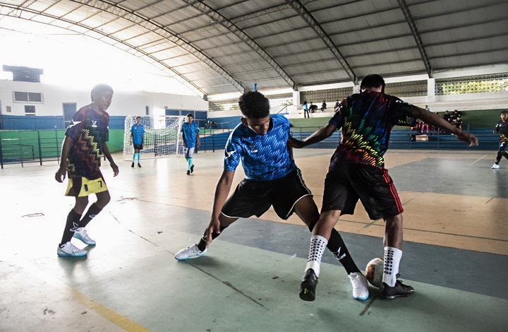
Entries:
[[224, 170], [234, 172], [241, 160], [246, 177], [258, 181], [279, 179], [296, 170], [286, 146], [289, 120], [272, 115], [270, 121], [271, 129], [265, 135], [245, 124], [236, 126], [226, 142]]

